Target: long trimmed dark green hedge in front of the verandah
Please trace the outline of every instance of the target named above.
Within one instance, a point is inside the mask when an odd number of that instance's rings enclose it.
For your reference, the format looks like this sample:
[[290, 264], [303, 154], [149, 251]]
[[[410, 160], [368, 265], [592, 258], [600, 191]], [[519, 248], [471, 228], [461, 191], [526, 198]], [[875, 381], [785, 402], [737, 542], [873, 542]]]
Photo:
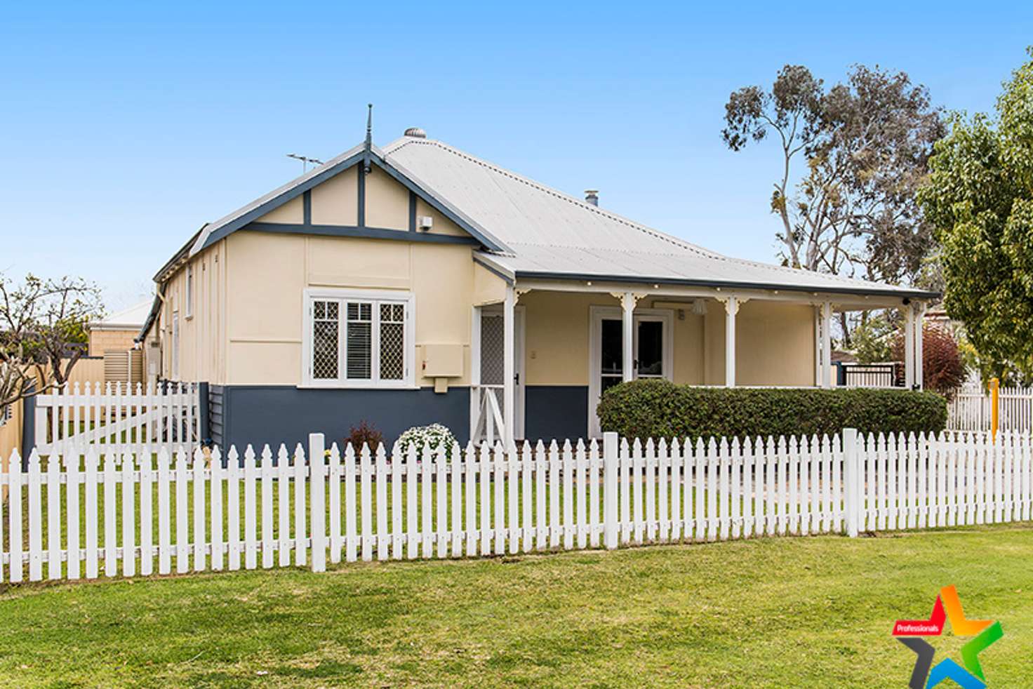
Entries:
[[628, 438], [709, 438], [939, 432], [947, 403], [936, 393], [901, 389], [695, 387], [635, 380], [607, 389], [603, 431]]

